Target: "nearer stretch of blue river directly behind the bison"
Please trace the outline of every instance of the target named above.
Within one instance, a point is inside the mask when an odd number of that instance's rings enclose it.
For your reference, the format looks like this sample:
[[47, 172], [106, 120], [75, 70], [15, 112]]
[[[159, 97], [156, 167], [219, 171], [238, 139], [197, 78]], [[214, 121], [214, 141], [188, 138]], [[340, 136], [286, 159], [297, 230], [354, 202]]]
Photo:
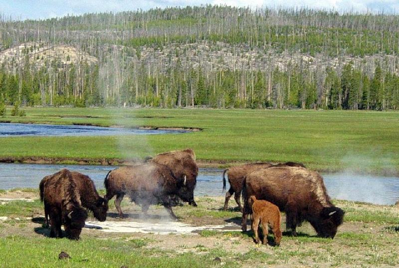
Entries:
[[[40, 180], [62, 168], [88, 175], [97, 189], [104, 189], [107, 173], [116, 166], [38, 165], [0, 163], [0, 189], [38, 188]], [[224, 196], [222, 169], [200, 168], [196, 196]], [[399, 200], [399, 178], [354, 174], [322, 174], [327, 192], [333, 199], [392, 205]], [[229, 185], [227, 183], [227, 190]], [[230, 200], [233, 204], [234, 200]]]

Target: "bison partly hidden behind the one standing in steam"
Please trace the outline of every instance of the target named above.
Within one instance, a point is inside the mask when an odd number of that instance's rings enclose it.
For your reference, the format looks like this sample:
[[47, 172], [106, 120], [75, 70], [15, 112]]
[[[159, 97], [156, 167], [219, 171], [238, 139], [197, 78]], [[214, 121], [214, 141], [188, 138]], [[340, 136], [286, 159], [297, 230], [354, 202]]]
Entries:
[[194, 201], [194, 189], [197, 184], [198, 166], [196, 163], [196, 154], [192, 149], [161, 153], [147, 159], [147, 162], [165, 165], [171, 169], [176, 179], [186, 180], [183, 190], [187, 191], [187, 195], [191, 196], [188, 202], [190, 205], [197, 206]]

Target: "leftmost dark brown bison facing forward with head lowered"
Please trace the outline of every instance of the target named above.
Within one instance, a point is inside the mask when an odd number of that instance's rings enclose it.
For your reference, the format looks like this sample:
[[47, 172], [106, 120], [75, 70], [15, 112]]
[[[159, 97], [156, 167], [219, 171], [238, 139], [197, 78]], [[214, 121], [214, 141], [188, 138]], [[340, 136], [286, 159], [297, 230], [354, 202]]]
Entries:
[[51, 223], [50, 237], [62, 238], [64, 225], [67, 238], [78, 240], [87, 219], [81, 206], [79, 190], [72, 173], [63, 169], [40, 182], [40, 200]]

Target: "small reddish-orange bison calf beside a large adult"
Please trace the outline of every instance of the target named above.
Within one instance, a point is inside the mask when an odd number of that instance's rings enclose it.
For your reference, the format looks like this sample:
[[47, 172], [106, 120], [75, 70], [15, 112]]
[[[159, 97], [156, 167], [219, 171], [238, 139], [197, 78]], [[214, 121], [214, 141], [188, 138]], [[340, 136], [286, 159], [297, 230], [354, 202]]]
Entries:
[[258, 236], [258, 228], [259, 223], [262, 227], [263, 231], [263, 241], [262, 244], [267, 244], [267, 234], [268, 234], [268, 226], [273, 229], [274, 234], [274, 242], [276, 245], [280, 245], [281, 241], [281, 215], [280, 210], [276, 205], [273, 205], [270, 202], [265, 200], [257, 200], [255, 196], [251, 196], [249, 198], [250, 203], [252, 204], [252, 230], [255, 234], [255, 242], [259, 243]]

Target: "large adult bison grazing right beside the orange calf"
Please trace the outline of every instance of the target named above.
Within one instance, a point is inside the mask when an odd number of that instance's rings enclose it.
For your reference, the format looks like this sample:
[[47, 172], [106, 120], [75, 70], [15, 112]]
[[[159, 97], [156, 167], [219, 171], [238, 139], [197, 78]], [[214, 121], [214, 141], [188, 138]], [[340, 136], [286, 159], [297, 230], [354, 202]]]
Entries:
[[323, 178], [302, 167], [270, 167], [256, 170], [244, 179], [242, 189], [244, 212], [242, 230], [246, 231], [247, 215], [252, 213], [248, 198], [266, 200], [286, 213], [286, 227], [296, 236], [296, 227], [304, 220], [318, 236], [334, 238], [343, 222], [344, 211], [334, 207], [327, 195]]

